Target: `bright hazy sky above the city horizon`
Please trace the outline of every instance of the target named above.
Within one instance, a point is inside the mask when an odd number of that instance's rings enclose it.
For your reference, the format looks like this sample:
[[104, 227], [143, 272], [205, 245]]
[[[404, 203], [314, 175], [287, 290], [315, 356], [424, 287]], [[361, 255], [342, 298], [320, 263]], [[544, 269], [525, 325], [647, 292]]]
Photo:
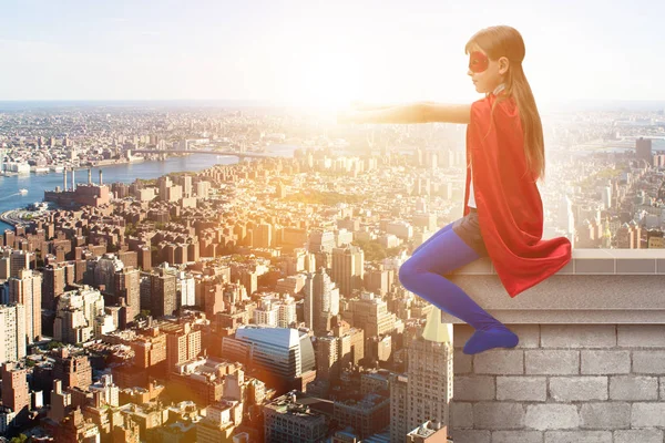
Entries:
[[464, 44], [522, 34], [536, 102], [665, 100], [665, 1], [0, 0], [0, 101], [480, 97]]

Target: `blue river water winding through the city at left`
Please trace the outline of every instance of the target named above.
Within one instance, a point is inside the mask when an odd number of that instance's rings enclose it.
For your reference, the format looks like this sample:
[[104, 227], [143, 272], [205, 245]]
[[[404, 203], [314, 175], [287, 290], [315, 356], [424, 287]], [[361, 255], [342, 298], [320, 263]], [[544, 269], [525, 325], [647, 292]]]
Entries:
[[[272, 145], [267, 153], [275, 156], [293, 157], [293, 152], [299, 146], [294, 145]], [[185, 157], [171, 157], [164, 162], [143, 162], [134, 164], [122, 164], [112, 166], [101, 166], [92, 168], [92, 182], [99, 183], [102, 169], [102, 179], [105, 184], [111, 183], [132, 183], [136, 178], [157, 178], [162, 175], [176, 172], [200, 172], [212, 167], [215, 164], [229, 165], [238, 163], [237, 157], [217, 157], [208, 154], [192, 154]], [[66, 186], [71, 186], [71, 172], [68, 171]], [[76, 183], [88, 183], [88, 169], [75, 172]], [[44, 198], [44, 190], [53, 190], [55, 186], [62, 188], [62, 173], [48, 174], [23, 174], [12, 176], [0, 176], [0, 214], [6, 210], [23, 208], [27, 205], [41, 202]], [[28, 194], [20, 195], [19, 189], [28, 189]], [[0, 222], [0, 233], [4, 229], [11, 229], [12, 226]]]

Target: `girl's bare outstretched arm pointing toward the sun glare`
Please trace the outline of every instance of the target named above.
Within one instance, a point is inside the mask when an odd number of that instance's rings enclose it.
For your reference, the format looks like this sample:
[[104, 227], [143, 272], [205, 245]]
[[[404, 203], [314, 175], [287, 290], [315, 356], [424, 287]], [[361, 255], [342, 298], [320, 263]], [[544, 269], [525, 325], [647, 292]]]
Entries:
[[[368, 109], [369, 106], [364, 106]], [[362, 109], [362, 107], [360, 107]], [[470, 121], [471, 105], [418, 102], [396, 106], [371, 106], [368, 111], [341, 113], [339, 123], [461, 123]]]

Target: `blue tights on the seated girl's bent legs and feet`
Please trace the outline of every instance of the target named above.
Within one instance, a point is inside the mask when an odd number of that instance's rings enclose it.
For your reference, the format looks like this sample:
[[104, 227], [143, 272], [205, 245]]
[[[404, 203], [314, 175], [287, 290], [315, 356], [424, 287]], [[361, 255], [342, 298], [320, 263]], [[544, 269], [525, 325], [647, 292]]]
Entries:
[[519, 342], [518, 336], [443, 277], [479, 258], [478, 253], [452, 230], [451, 223], [416, 248], [411, 258], [400, 267], [399, 281], [411, 292], [475, 329], [464, 344], [464, 353], [514, 348]]

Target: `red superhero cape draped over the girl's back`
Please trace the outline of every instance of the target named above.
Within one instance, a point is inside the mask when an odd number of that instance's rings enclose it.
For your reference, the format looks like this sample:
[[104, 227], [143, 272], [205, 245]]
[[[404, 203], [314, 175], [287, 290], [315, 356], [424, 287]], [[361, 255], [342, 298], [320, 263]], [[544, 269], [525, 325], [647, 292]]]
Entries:
[[478, 220], [494, 269], [511, 297], [538, 285], [571, 260], [565, 237], [542, 239], [543, 204], [524, 154], [524, 136], [514, 99], [494, 109], [494, 94], [471, 104], [467, 127], [467, 187], [473, 187]]

